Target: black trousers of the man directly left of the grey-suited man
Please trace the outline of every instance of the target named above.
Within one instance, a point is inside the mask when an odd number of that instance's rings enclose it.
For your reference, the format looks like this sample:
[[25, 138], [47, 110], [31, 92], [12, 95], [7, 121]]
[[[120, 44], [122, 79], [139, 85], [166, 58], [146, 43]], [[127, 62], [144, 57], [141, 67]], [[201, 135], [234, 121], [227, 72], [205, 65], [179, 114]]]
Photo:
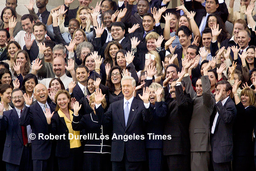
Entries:
[[169, 155], [166, 156], [169, 171], [190, 171], [189, 155]]

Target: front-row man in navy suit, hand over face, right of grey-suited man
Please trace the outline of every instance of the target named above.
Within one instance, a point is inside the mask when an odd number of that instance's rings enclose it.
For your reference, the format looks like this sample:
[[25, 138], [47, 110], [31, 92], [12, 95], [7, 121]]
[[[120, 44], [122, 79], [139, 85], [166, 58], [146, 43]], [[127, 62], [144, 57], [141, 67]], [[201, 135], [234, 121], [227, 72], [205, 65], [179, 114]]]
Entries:
[[232, 86], [226, 80], [217, 83], [212, 122], [212, 165], [215, 171], [231, 171], [233, 160], [233, 123], [236, 116], [235, 103], [229, 95]]

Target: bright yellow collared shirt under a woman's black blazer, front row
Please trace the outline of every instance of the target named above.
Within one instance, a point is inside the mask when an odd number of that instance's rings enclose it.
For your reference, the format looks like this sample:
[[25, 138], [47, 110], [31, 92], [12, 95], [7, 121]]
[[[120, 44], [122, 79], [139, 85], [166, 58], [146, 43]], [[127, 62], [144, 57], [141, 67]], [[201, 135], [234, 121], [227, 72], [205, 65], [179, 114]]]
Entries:
[[73, 139], [70, 139], [70, 148], [78, 148], [81, 146], [81, 141], [79, 138], [77, 138], [77, 136], [80, 136], [80, 131], [76, 131], [72, 129], [72, 125], [71, 125], [71, 122], [73, 120], [72, 110], [69, 110], [69, 114], [70, 114], [70, 120], [67, 118], [67, 116], [65, 116], [65, 114], [60, 109], [58, 110], [58, 115], [61, 118], [64, 118], [64, 121], [67, 125], [68, 132], [73, 134]]

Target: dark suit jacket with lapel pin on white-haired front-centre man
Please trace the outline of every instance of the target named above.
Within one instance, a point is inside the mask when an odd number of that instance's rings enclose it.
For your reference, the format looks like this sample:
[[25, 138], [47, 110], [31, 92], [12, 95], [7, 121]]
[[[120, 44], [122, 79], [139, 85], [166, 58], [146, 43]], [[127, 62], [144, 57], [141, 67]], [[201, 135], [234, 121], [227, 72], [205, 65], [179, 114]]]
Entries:
[[[152, 114], [149, 112], [149, 109], [145, 109], [143, 101], [134, 98], [131, 103], [127, 125], [125, 126], [123, 104], [123, 100], [111, 103], [106, 113], [104, 113], [102, 105], [100, 105], [95, 110], [99, 123], [102, 125], [108, 122], [112, 123], [113, 136], [144, 136], [143, 123], [144, 121], [149, 122], [152, 118]], [[111, 161], [122, 161], [124, 151], [126, 152], [126, 156], [129, 162], [139, 162], [146, 160], [145, 141], [143, 139], [128, 139], [128, 141], [124, 141], [123, 139], [118, 138], [112, 139]]]

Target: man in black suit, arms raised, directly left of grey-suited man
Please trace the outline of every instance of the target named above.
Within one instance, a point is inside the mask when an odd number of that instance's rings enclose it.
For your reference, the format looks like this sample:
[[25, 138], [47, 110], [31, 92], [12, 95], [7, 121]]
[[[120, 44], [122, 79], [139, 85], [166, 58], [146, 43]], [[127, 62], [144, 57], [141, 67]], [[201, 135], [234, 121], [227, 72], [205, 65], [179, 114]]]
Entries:
[[[185, 73], [184, 73], [185, 74]], [[172, 78], [172, 73], [170, 76]], [[173, 86], [172, 86], [173, 85]], [[163, 140], [163, 155], [166, 156], [170, 171], [190, 171], [189, 122], [192, 114], [192, 101], [186, 94], [182, 77], [172, 81], [164, 135], [172, 139]]]

